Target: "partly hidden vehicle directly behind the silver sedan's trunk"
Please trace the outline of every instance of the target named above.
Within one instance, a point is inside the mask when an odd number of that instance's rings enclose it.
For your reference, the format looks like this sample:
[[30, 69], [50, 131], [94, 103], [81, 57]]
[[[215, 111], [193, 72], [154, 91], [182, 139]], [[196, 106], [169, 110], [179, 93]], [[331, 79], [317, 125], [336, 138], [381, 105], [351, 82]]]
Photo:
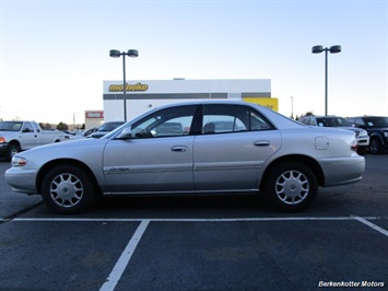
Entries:
[[357, 139], [358, 154], [364, 154], [369, 147], [369, 136], [365, 129], [352, 127], [350, 123], [343, 117], [340, 116], [316, 116], [316, 115], [306, 115], [298, 119], [301, 123], [310, 126], [325, 126], [325, 127], [338, 127], [343, 129], [349, 129], [355, 132], [355, 138]]

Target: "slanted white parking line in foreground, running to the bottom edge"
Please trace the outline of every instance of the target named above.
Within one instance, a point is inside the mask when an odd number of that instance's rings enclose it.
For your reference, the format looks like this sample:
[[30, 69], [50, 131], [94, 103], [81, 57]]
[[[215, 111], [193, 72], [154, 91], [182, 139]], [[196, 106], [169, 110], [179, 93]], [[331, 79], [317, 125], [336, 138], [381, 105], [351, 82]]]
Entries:
[[124, 249], [120, 258], [117, 260], [115, 267], [106, 279], [105, 283], [99, 289], [101, 291], [113, 291], [115, 290], [116, 284], [121, 278], [122, 272], [127, 268], [129, 260], [131, 259], [133, 252], [145, 232], [146, 226], [149, 225], [150, 220], [142, 220], [138, 229], [136, 230], [133, 236], [129, 241], [127, 247]]

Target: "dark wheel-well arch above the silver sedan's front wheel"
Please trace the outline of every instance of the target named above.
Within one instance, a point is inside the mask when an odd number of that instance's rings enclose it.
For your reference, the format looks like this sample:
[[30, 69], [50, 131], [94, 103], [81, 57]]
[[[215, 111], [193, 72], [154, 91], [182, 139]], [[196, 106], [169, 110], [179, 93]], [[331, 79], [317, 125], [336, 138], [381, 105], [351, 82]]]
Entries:
[[98, 187], [97, 181], [96, 181], [92, 170], [87, 165], [85, 165], [84, 163], [77, 161], [77, 160], [71, 160], [71, 159], [59, 159], [59, 160], [50, 161], [49, 163], [45, 164], [40, 168], [39, 173], [36, 176], [36, 190], [38, 194], [40, 194], [43, 179], [46, 176], [46, 174], [52, 167], [55, 167], [57, 165], [63, 165], [63, 164], [73, 165], [73, 166], [77, 166], [78, 168], [81, 168], [91, 178], [92, 184], [95, 187], [95, 190], [97, 190], [98, 194], [101, 194], [101, 188]]

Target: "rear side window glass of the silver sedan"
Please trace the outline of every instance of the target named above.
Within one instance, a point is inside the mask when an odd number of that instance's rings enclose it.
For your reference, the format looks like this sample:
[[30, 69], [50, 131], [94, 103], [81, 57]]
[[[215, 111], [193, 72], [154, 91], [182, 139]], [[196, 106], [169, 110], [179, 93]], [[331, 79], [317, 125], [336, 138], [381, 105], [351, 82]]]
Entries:
[[273, 126], [259, 113], [247, 106], [204, 105], [202, 133], [240, 132], [272, 129]]

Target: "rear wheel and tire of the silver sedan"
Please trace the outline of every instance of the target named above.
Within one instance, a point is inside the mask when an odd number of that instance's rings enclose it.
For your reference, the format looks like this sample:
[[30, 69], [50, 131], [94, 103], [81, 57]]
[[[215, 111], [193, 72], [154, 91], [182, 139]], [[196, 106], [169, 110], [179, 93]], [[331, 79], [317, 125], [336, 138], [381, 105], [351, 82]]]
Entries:
[[318, 182], [308, 166], [287, 162], [270, 173], [264, 189], [270, 201], [279, 210], [298, 212], [316, 198]]

